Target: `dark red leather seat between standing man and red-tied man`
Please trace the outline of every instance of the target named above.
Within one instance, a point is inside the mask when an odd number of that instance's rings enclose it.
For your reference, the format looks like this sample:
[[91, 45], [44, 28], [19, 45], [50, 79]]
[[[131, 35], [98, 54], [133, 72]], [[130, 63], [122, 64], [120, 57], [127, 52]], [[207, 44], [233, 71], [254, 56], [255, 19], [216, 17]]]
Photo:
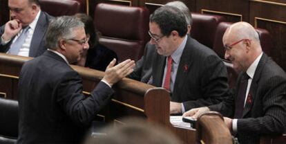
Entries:
[[111, 48], [120, 62], [139, 60], [149, 41], [147, 8], [99, 3], [95, 8], [95, 27], [102, 33], [101, 44]]

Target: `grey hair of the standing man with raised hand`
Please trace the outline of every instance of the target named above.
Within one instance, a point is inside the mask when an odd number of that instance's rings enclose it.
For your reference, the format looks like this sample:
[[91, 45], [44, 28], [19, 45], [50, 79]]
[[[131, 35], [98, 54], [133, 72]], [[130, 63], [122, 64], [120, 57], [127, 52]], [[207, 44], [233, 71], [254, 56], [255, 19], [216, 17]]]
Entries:
[[63, 16], [53, 19], [46, 33], [46, 47], [57, 50], [60, 39], [75, 37], [75, 28], [84, 28], [84, 23], [76, 17]]

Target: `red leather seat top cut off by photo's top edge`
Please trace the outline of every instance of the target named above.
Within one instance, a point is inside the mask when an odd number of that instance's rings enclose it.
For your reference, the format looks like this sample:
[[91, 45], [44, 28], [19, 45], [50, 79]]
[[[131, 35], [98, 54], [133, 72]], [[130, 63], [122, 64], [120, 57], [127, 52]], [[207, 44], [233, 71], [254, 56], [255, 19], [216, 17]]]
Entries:
[[75, 15], [79, 12], [80, 4], [77, 1], [70, 0], [40, 0], [41, 10], [48, 12], [54, 17], [62, 15]]

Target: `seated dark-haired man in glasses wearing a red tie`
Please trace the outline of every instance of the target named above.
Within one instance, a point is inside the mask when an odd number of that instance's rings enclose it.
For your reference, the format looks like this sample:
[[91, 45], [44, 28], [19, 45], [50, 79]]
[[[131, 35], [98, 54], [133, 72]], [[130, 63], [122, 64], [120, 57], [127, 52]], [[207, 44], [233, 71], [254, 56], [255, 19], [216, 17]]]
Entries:
[[171, 92], [171, 114], [217, 104], [227, 96], [225, 65], [210, 48], [187, 35], [187, 21], [178, 8], [158, 8], [150, 17], [149, 27], [151, 41], [128, 78], [156, 87], [164, 87], [169, 81], [164, 88]]

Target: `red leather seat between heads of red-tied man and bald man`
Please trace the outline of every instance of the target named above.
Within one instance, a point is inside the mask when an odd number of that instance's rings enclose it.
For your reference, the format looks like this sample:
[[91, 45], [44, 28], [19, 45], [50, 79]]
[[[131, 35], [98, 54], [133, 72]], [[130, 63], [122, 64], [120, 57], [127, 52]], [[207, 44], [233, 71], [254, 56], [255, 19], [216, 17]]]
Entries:
[[225, 17], [193, 12], [191, 16], [193, 18], [191, 37], [198, 40], [201, 44], [213, 48], [213, 37], [216, 34], [216, 27], [221, 21], [225, 21]]

